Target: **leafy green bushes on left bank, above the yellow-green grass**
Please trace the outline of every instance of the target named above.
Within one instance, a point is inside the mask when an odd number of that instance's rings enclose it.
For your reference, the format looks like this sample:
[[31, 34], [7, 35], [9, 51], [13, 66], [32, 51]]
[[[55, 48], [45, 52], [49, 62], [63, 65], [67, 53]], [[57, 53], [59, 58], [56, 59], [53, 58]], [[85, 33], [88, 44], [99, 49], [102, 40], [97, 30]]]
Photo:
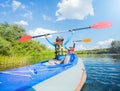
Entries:
[[48, 50], [45, 45], [33, 40], [20, 43], [19, 38], [26, 35], [22, 26], [7, 22], [0, 24], [0, 55], [32, 55]]

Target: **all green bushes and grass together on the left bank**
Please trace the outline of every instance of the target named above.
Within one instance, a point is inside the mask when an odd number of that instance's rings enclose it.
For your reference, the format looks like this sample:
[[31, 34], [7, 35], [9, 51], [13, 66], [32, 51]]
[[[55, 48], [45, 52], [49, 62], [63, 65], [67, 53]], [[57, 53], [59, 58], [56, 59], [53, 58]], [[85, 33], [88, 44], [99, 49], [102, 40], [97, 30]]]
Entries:
[[0, 70], [38, 63], [54, 57], [54, 52], [36, 41], [20, 43], [26, 35], [22, 26], [7, 22], [0, 24]]

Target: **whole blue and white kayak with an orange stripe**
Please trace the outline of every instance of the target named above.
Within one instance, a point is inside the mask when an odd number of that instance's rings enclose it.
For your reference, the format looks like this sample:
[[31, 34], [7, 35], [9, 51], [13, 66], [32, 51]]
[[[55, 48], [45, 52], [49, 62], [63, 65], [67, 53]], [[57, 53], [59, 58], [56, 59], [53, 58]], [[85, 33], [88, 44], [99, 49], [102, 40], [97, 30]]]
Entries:
[[85, 81], [83, 60], [76, 55], [68, 64], [45, 61], [0, 71], [0, 91], [80, 91]]

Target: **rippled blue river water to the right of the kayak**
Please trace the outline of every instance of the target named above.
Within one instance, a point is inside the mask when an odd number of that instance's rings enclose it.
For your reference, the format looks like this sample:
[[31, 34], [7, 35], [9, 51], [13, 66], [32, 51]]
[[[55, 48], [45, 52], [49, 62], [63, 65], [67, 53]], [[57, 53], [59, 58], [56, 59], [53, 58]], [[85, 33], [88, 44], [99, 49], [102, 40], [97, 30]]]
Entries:
[[81, 91], [120, 91], [120, 56], [82, 58], [87, 80]]

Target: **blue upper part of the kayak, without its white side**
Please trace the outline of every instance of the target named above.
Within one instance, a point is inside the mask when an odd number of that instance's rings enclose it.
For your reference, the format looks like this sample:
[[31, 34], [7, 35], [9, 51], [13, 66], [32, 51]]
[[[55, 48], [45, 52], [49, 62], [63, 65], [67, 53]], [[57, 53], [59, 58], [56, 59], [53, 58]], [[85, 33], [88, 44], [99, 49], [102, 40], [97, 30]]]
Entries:
[[[57, 77], [57, 75], [65, 73], [65, 71], [76, 66], [78, 57], [75, 56], [68, 64], [48, 65], [47, 63], [45, 61], [30, 66], [0, 71], [0, 91], [26, 91], [31, 90], [37, 84], [49, 83], [47, 82], [48, 79]], [[37, 90], [39, 91], [39, 89]]]

